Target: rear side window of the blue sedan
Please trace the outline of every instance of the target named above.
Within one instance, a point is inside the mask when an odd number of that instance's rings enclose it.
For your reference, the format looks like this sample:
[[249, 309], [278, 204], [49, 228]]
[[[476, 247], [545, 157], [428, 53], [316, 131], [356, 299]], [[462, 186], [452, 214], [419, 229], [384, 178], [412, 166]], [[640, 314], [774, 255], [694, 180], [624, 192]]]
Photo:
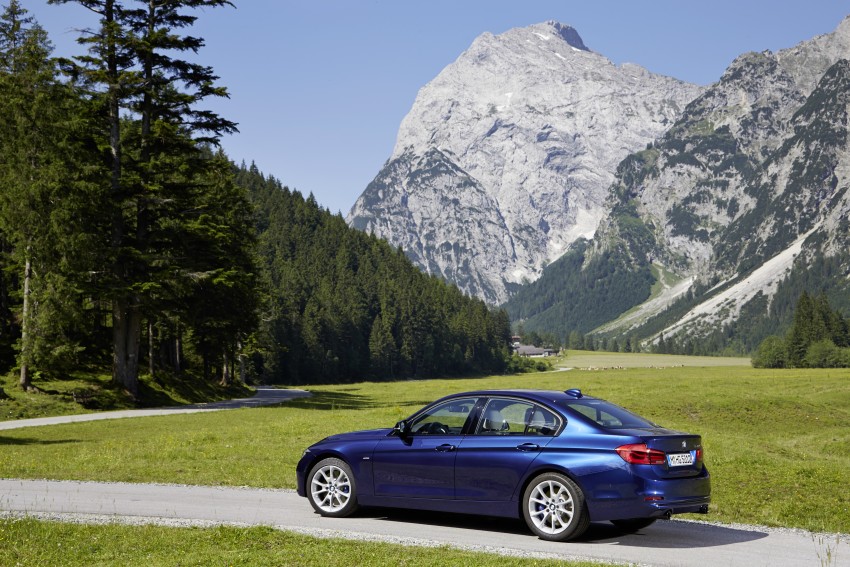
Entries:
[[554, 435], [558, 418], [547, 409], [520, 400], [492, 399], [478, 421], [477, 435]]

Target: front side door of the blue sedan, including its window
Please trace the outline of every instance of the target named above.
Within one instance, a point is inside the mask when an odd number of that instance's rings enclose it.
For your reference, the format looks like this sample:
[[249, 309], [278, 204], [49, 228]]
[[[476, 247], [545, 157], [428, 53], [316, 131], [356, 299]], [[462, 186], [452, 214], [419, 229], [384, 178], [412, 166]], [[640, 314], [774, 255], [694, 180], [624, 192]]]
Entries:
[[372, 454], [376, 496], [454, 498], [457, 448], [477, 398], [437, 404], [414, 416], [404, 438], [382, 439]]

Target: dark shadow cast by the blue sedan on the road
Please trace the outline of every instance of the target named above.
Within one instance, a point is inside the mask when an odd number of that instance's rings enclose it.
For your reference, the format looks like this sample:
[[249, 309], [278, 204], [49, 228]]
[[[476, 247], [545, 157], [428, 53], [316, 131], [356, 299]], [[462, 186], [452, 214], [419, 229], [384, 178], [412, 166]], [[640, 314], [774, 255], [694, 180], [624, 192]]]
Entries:
[[[511, 518], [383, 508], [364, 509], [359, 515], [388, 522], [486, 530], [506, 534], [524, 534], [530, 538], [535, 537], [529, 531], [525, 522]], [[571, 543], [682, 549], [744, 543], [765, 538], [767, 535], [762, 531], [679, 520], [659, 520], [637, 532], [624, 531], [609, 522], [593, 522], [584, 535]]]

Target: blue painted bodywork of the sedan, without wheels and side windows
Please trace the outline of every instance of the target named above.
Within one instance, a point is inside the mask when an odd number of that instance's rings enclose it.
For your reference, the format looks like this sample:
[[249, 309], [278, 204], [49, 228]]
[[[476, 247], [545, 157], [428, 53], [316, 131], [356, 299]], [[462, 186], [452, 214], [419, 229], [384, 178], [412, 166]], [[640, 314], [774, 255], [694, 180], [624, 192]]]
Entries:
[[[357, 501], [367, 506], [521, 518], [525, 487], [542, 474], [559, 473], [581, 489], [593, 521], [707, 510], [711, 482], [702, 463], [698, 435], [654, 424], [617, 429], [604, 422], [610, 415], [600, 414], [594, 421], [592, 415], [573, 412], [558, 395], [527, 391], [464, 394], [467, 419], [462, 428], [453, 426], [455, 433], [435, 430], [404, 436], [399, 430], [381, 429], [329, 437], [310, 447], [299, 462], [298, 493], [307, 495], [307, 478], [316, 463], [336, 457], [351, 467]], [[478, 399], [474, 407], [470, 396]], [[438, 400], [411, 420], [438, 404], [447, 407], [446, 401], [453, 403], [454, 398]], [[524, 429], [518, 428], [519, 414], [510, 415], [513, 406], [509, 405], [517, 399], [555, 412], [557, 427], [534, 429], [526, 423]], [[489, 406], [492, 400], [502, 405]], [[596, 400], [589, 404], [595, 411]], [[485, 421], [492, 418], [489, 407], [504, 410], [508, 424], [504, 431]], [[532, 408], [529, 413], [536, 411]], [[665, 454], [679, 452], [683, 457], [675, 462], [634, 464], [617, 452], [629, 445]], [[693, 458], [685, 458], [688, 455]]]

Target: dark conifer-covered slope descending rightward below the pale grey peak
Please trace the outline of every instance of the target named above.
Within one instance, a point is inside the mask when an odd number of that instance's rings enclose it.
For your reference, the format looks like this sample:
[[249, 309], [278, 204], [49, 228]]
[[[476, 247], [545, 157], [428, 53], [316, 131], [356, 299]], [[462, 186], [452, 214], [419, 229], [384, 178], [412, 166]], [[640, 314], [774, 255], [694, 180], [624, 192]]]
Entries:
[[267, 286], [255, 371], [289, 384], [498, 372], [510, 322], [254, 166]]

